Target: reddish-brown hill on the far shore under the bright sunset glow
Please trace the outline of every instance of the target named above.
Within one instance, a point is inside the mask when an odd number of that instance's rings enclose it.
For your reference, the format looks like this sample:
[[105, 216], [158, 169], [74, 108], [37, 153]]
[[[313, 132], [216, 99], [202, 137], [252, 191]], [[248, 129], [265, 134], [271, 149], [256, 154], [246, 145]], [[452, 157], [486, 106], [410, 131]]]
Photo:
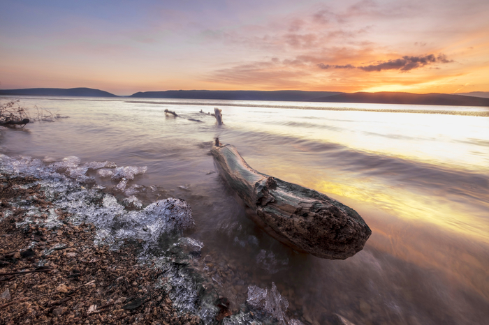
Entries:
[[489, 98], [448, 95], [446, 93], [340, 93], [338, 95], [315, 98], [311, 101], [329, 103], [376, 103], [489, 107]]

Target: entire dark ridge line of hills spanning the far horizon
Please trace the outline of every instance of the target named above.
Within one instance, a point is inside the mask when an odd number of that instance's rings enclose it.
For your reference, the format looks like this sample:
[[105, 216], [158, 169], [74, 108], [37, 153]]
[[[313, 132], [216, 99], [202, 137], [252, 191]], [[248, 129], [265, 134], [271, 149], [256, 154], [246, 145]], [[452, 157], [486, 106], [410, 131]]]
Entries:
[[[479, 92], [483, 93], [483, 92]], [[489, 107], [489, 98], [446, 93], [342, 93], [339, 91], [212, 91], [169, 90], [145, 91], [131, 96], [117, 96], [107, 91], [91, 88], [31, 88], [0, 90], [0, 95], [10, 96], [80, 96], [125, 98], [180, 98], [210, 100], [282, 100], [324, 103], [373, 103], [407, 105], [455, 105]]]

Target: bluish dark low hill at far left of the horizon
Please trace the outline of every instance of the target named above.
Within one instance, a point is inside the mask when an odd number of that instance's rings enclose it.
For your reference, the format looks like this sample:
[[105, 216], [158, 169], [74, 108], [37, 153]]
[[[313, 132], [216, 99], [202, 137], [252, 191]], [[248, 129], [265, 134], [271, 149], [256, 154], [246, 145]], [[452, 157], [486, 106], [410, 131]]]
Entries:
[[92, 88], [29, 88], [0, 89], [0, 95], [13, 96], [80, 96], [80, 97], [117, 97], [113, 93]]

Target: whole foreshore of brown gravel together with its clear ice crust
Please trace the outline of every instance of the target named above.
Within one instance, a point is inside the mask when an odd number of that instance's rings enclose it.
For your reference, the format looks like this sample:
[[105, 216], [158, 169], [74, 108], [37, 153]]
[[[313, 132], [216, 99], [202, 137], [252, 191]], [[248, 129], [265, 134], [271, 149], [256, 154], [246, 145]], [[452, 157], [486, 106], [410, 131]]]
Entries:
[[0, 154], [0, 324], [302, 324], [273, 284], [231, 308], [190, 206], [116, 199], [87, 176], [103, 168], [119, 190], [138, 170]]

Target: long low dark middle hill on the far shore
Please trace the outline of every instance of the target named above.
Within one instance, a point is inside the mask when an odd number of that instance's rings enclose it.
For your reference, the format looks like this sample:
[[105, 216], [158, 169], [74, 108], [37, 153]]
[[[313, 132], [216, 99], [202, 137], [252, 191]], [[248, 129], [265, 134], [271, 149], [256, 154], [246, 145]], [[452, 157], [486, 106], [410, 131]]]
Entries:
[[182, 98], [182, 99], [227, 99], [227, 100], [283, 100], [283, 101], [309, 101], [318, 97], [333, 96], [339, 91], [250, 91], [250, 90], [168, 90], [145, 91], [134, 93], [129, 97], [136, 98]]

